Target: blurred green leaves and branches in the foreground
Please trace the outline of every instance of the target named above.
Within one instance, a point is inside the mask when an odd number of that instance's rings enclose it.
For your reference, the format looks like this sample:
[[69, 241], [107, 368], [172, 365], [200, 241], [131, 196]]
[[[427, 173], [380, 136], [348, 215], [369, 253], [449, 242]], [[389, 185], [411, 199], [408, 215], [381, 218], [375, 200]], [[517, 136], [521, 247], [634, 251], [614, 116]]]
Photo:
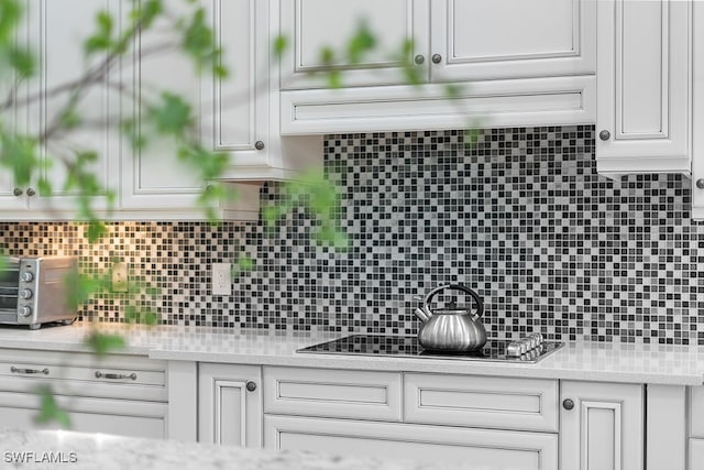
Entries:
[[[161, 44], [154, 54], [178, 52], [188, 57], [198, 74], [227, 78], [230, 74], [222, 62], [222, 51], [217, 46], [213, 30], [201, 2], [195, 0], [123, 0], [127, 14], [116, 18], [109, 11], [96, 13], [92, 32], [82, 42], [82, 54], [86, 68], [77, 70], [75, 79], [42, 92], [21, 94], [21, 86], [28, 80], [37, 79], [41, 57], [36, 52], [15, 41], [20, 36], [20, 28], [24, 21], [25, 3], [22, 0], [0, 0], [0, 89], [7, 88], [7, 96], [0, 96], [0, 170], [10, 172], [18, 186], [33, 184], [42, 196], [51, 196], [56, 187], [70, 190], [77, 196], [76, 220], [86, 222], [86, 236], [91, 243], [98, 242], [108, 233], [96, 205], [107, 205], [107, 214], [114, 210], [117, 195], [105, 187], [95, 173], [95, 164], [100, 155], [96, 149], [70, 142], [70, 136], [80, 129], [91, 125], [90, 119], [81, 113], [80, 103], [90, 90], [102, 86], [120, 62], [128, 63], [135, 54], [141, 61], [148, 59], [144, 50], [136, 52], [136, 39], [158, 28], [170, 32], [170, 43]], [[178, 4], [177, 11], [173, 7]], [[145, 36], [141, 36], [145, 37]], [[288, 40], [278, 36], [273, 40], [273, 55], [280, 59], [288, 48]], [[391, 53], [391, 57], [399, 65], [406, 83], [420, 86], [427, 81], [426, 65], [413, 62], [414, 43], [406, 41], [399, 50]], [[144, 46], [143, 46], [144, 47]], [[365, 21], [360, 21], [354, 34], [348, 39], [340, 50], [322, 47], [320, 62], [322, 66], [314, 75], [322, 77], [331, 88], [344, 86], [344, 72], [361, 64], [367, 54], [378, 48], [378, 40]], [[7, 87], [4, 87], [7, 85]], [[140, 116], [125, 113], [118, 116], [113, 125], [120, 131], [124, 141], [138, 151], [146, 151], [150, 145], [166, 141], [175, 147], [175, 155], [180, 164], [186, 165], [194, 175], [208, 182], [198, 198], [198, 206], [212, 222], [217, 222], [213, 207], [218, 201], [237, 197], [228, 185], [219, 183], [219, 178], [230, 164], [230, 155], [206, 147], [200, 141], [197, 108], [183, 96], [166, 90], [157, 92], [135, 92], [129, 85], [120, 85], [119, 91], [124, 97], [140, 100]], [[447, 96], [454, 98], [460, 90], [454, 86], [447, 87]], [[45, 97], [63, 96], [65, 101], [44, 129], [32, 132], [18, 131], [14, 122], [15, 111], [34, 103]], [[468, 139], [475, 140], [476, 133], [468, 131]], [[52, 143], [61, 142], [64, 151], [55, 151]], [[144, 152], [146, 153], [146, 152]], [[160, 155], [163, 156], [163, 155]], [[65, 181], [50, 181], [48, 170], [63, 166]], [[56, 186], [56, 187], [55, 187]], [[46, 199], [45, 199], [46, 200]], [[51, 197], [48, 198], [51, 200]], [[337, 250], [345, 250], [349, 245], [346, 234], [340, 228], [341, 196], [324, 174], [317, 170], [301, 175], [299, 181], [283, 184], [283, 198], [274, 205], [263, 208], [263, 219], [270, 230], [285, 219], [287, 214], [304, 210], [317, 220], [314, 238], [320, 244], [331, 245]], [[253, 270], [254, 260], [241, 251], [232, 270], [234, 278]], [[128, 293], [112, 292], [112, 273], [82, 273], [67, 278], [75, 295], [70, 299], [72, 307], [78, 309], [96, 295], [103, 297], [141, 297], [156, 295], [144, 280], [135, 276], [128, 282]], [[135, 302], [124, 304], [124, 319], [128, 323], [154, 325], [158, 315], [148, 311]], [[124, 347], [124, 339], [110, 334], [102, 334], [97, 328], [86, 339], [86, 345], [102, 358], [112, 350]], [[54, 400], [50, 386], [40, 390], [42, 409], [37, 422], [58, 422], [68, 427], [68, 415], [61, 409]]]

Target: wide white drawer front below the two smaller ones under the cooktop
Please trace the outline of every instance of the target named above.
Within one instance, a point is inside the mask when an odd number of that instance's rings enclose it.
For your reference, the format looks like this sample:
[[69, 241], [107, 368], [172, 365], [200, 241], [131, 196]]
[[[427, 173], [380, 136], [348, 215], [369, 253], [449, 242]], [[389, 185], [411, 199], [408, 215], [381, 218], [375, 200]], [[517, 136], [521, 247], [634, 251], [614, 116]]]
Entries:
[[473, 469], [558, 468], [558, 436], [547, 433], [266, 415], [264, 447], [435, 464], [462, 462]]

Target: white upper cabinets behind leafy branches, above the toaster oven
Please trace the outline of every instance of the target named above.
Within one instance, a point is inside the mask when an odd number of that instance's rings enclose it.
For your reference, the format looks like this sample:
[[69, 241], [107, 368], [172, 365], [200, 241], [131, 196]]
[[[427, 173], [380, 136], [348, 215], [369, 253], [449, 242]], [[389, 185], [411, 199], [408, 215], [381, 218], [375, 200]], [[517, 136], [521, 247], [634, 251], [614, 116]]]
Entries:
[[[82, 56], [82, 41], [95, 32], [97, 12], [109, 11], [119, 20], [116, 28], [123, 30], [133, 8], [125, 0], [96, 0], [90, 8], [82, 0], [26, 2], [28, 21], [19, 41], [40, 53], [41, 68], [36, 79], [18, 89], [19, 98], [30, 101], [30, 106], [14, 110], [19, 132], [52, 128], [66, 95], [59, 99], [47, 90], [75, 80], [91, 66]], [[140, 133], [151, 135], [147, 121], [142, 119], [147, 111], [145, 102], [154, 102], [164, 90], [194, 103], [204, 145], [228, 154], [230, 164], [222, 179], [235, 189], [238, 198], [213, 207], [215, 214], [224, 219], [257, 220], [262, 182], [290, 179], [321, 164], [320, 136], [280, 138], [278, 67], [273, 64], [272, 53], [272, 41], [278, 33], [278, 0], [200, 0], [200, 4], [215, 29], [217, 46], [223, 51], [229, 77], [197, 74], [177, 47], [165, 47], [178, 37], [168, 31], [166, 22], [161, 22], [139, 34], [105, 83], [91, 86], [80, 100], [79, 112], [88, 125], [74, 132], [70, 140], [80, 149], [98, 153], [91, 170], [118, 196], [112, 214], [102, 211], [107, 204], [99, 198], [95, 206], [99, 215], [117, 220], [206, 217], [197, 201], [212, 182], [202, 181], [194, 168], [179, 162], [175, 144], [152, 140], [142, 149], [132, 149], [118, 130], [121, 120], [132, 119]], [[166, 2], [165, 7], [176, 13], [190, 8], [186, 2]], [[96, 62], [101, 58], [97, 56]], [[42, 149], [42, 155], [61, 155], [74, 147], [67, 140], [56, 140]], [[18, 187], [3, 172], [0, 211], [6, 220], [75, 217], [76, 194], [64, 189], [62, 165], [47, 172], [54, 192], [46, 198], [34, 183]]]

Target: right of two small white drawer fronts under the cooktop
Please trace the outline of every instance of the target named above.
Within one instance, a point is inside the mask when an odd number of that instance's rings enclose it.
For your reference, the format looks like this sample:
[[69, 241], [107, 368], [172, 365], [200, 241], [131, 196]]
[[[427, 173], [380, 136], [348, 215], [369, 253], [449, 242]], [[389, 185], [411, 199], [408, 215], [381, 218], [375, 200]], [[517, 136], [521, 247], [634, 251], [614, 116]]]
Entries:
[[406, 373], [404, 420], [558, 431], [558, 382]]

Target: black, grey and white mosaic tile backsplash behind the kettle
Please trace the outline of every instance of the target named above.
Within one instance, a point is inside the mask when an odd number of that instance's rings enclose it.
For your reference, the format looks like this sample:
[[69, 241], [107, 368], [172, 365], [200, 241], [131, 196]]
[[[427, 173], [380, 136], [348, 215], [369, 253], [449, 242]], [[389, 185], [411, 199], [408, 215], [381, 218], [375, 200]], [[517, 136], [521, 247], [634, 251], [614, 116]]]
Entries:
[[[0, 245], [75, 254], [89, 273], [127, 261], [136, 295], [85, 305], [100, 321], [146, 307], [169, 325], [416, 334], [414, 296], [462, 283], [484, 298], [493, 337], [704, 345], [704, 226], [690, 219], [689, 181], [598, 176], [592, 125], [485, 130], [473, 146], [460, 131], [329, 135], [324, 160], [346, 252], [316, 245], [302, 211], [275, 233], [121, 222], [95, 247], [81, 225], [2, 222]], [[231, 296], [211, 295], [210, 264], [242, 252], [254, 270]]]

